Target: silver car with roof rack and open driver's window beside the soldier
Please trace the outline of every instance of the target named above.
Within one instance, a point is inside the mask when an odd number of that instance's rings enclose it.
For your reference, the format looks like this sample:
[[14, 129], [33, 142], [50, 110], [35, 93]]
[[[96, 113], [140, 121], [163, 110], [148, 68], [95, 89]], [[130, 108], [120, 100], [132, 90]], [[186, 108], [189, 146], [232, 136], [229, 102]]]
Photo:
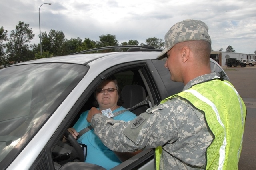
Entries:
[[[182, 91], [183, 83], [172, 82], [164, 61], [156, 60], [159, 53], [138, 48], [130, 52], [74, 54], [1, 69], [1, 169], [58, 170], [70, 162], [73, 167], [86, 169], [80, 145], [76, 140], [66, 144], [62, 138], [80, 114], [92, 107], [93, 91], [100, 82], [115, 75], [121, 89], [139, 86], [139, 93], [133, 91], [135, 88], [126, 93], [135, 94], [132, 103], [125, 102], [130, 96], [122, 96], [125, 108], [146, 100], [146, 104], [131, 110], [137, 115]], [[211, 69], [228, 80], [212, 59]], [[144, 150], [115, 169], [154, 169], [154, 150]]]

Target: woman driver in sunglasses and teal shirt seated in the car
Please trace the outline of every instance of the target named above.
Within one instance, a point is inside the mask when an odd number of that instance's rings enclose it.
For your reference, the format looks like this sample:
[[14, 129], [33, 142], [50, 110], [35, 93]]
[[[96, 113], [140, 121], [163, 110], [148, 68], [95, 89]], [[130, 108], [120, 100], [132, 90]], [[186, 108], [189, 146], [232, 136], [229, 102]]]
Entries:
[[[114, 76], [104, 80], [94, 92], [94, 96], [96, 97], [98, 103], [98, 109], [100, 111], [110, 109], [112, 113], [115, 115], [116, 112], [124, 110], [121, 106], [122, 100], [120, 98], [120, 89], [117, 84], [117, 80]], [[90, 123], [87, 122], [86, 118], [88, 115], [89, 110], [83, 112], [80, 115], [78, 121], [74, 124], [73, 128], [69, 128], [68, 131], [77, 138], [79, 135], [78, 132], [88, 126]], [[108, 113], [108, 112], [106, 112]], [[117, 116], [114, 116], [113, 119], [115, 120], [124, 120], [130, 121], [136, 118], [136, 115], [130, 111], [125, 111]], [[132, 157], [136, 152], [131, 153], [120, 153], [120, 152], [113, 152], [112, 150], [108, 149], [94, 134], [93, 129], [89, 130], [82, 136], [78, 138], [78, 142], [87, 145], [87, 157], [85, 162], [91, 164], [97, 164], [102, 166], [106, 169], [111, 169], [114, 166], [117, 166], [130, 157]]]

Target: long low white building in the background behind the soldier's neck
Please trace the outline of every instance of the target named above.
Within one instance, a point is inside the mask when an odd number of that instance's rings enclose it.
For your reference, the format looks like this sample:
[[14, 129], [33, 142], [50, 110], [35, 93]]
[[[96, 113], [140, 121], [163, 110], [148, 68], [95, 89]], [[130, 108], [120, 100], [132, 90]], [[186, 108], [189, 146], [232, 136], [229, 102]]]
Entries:
[[226, 59], [236, 58], [237, 60], [242, 59], [253, 59], [256, 60], [256, 54], [243, 54], [237, 52], [224, 52], [224, 51], [212, 51], [211, 58], [220, 64], [220, 66], [225, 66]]

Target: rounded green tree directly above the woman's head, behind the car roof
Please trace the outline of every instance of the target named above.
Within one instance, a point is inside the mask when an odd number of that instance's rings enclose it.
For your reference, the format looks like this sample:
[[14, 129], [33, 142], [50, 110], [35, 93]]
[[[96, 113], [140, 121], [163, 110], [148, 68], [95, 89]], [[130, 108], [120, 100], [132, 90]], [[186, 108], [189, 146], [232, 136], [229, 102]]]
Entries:
[[[107, 34], [99, 36], [96, 48], [107, 47], [107, 46], [118, 46], [118, 40], [115, 35]], [[114, 52], [114, 49], [103, 50], [103, 52]]]

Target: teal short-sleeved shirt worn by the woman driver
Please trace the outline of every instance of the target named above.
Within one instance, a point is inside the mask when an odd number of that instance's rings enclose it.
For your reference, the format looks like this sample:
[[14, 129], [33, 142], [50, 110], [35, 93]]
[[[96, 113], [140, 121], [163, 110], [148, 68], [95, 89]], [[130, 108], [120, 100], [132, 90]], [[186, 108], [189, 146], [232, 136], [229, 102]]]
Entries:
[[[113, 111], [113, 113], [118, 112], [120, 110], [124, 110], [123, 107], [117, 108]], [[74, 129], [79, 132], [80, 130], [90, 126], [90, 123], [87, 122], [86, 118], [89, 110], [83, 112], [80, 115], [80, 118], [74, 125]], [[136, 118], [136, 115], [130, 111], [123, 112], [118, 116], [115, 116], [114, 120], [124, 120], [130, 121]], [[86, 161], [91, 164], [97, 164], [106, 169], [111, 169], [114, 166], [117, 166], [121, 163], [121, 161], [116, 157], [116, 154], [108, 149], [98, 138], [96, 134], [94, 134], [93, 129], [86, 132], [78, 139], [79, 143], [87, 145], [87, 157]]]

